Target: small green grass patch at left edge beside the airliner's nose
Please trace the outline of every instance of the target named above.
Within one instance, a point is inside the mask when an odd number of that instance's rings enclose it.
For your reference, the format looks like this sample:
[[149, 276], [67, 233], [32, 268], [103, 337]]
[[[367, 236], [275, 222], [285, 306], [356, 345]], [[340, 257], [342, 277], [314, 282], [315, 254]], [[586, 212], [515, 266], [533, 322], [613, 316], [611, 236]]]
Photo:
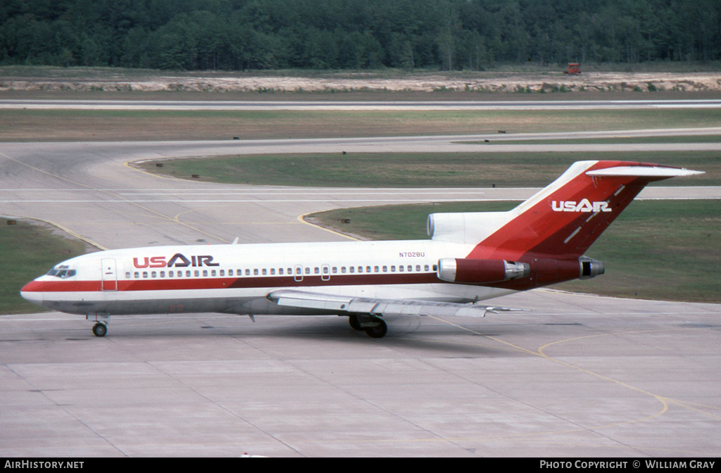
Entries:
[[53, 234], [37, 224], [17, 221], [7, 225], [0, 221], [0, 314], [24, 314], [44, 311], [20, 297], [20, 289], [43, 275], [58, 262], [82, 255], [84, 244]]

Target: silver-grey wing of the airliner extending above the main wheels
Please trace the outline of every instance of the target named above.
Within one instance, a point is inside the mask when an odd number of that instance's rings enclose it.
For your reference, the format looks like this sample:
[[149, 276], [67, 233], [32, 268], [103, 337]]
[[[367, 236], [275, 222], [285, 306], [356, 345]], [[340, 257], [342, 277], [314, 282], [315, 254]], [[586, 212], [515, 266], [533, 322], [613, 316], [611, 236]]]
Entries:
[[453, 302], [415, 301], [409, 299], [373, 299], [366, 297], [335, 296], [304, 291], [279, 290], [269, 293], [267, 299], [279, 306], [303, 309], [322, 309], [349, 314], [419, 315], [422, 317], [484, 317], [486, 312], [526, 311], [508, 307], [455, 304]]

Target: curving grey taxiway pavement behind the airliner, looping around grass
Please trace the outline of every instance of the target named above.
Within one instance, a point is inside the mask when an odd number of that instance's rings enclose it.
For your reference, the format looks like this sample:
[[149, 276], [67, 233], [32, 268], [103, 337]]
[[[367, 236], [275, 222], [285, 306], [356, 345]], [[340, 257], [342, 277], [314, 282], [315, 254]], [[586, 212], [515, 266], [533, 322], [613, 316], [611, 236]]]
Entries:
[[[716, 128], [683, 133], [715, 133]], [[658, 131], [617, 132], [648, 136]], [[672, 133], [672, 132], [667, 132]], [[681, 133], [681, 132], [679, 132]], [[525, 135], [524, 135], [525, 136]], [[556, 137], [542, 133], [540, 137]], [[578, 134], [574, 135], [578, 136]], [[583, 136], [613, 136], [609, 132]], [[653, 136], [653, 135], [652, 135]], [[444, 200], [523, 200], [537, 189], [317, 189], [218, 185], [159, 177], [128, 162], [184, 156], [422, 151], [628, 151], [719, 149], [721, 143], [485, 146], [487, 135], [249, 141], [4, 143], [0, 215], [37, 218], [99, 247], [197, 242], [332, 241], [342, 236], [304, 224], [305, 213], [333, 208]], [[459, 142], [462, 138], [464, 142]], [[542, 156], [542, 154], [539, 154]], [[721, 198], [721, 187], [650, 187], [640, 198]]]

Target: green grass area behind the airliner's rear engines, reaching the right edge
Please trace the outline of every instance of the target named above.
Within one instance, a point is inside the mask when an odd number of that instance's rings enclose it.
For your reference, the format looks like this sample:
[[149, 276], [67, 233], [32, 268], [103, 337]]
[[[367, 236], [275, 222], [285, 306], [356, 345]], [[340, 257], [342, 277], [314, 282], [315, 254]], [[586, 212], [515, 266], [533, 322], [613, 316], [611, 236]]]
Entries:
[[[386, 205], [315, 213], [368, 239], [428, 239], [428, 213], [507, 211], [517, 202]], [[341, 219], [350, 219], [342, 224]], [[721, 302], [721, 200], [635, 200], [588, 250], [606, 274], [552, 286], [606, 296]]]

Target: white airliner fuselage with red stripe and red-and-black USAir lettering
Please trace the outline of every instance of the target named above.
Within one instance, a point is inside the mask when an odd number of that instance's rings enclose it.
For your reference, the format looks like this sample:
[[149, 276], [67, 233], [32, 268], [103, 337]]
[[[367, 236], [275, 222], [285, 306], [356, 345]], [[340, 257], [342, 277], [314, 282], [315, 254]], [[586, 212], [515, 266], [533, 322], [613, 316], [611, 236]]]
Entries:
[[[74, 314], [322, 314], [266, 298], [283, 288], [343, 296], [469, 302], [508, 289], [447, 283], [438, 260], [470, 244], [431, 240], [221, 244], [117, 249], [67, 260], [23, 288], [25, 299]], [[51, 271], [51, 273], [53, 273]], [[74, 271], [73, 275], [70, 272]]]

